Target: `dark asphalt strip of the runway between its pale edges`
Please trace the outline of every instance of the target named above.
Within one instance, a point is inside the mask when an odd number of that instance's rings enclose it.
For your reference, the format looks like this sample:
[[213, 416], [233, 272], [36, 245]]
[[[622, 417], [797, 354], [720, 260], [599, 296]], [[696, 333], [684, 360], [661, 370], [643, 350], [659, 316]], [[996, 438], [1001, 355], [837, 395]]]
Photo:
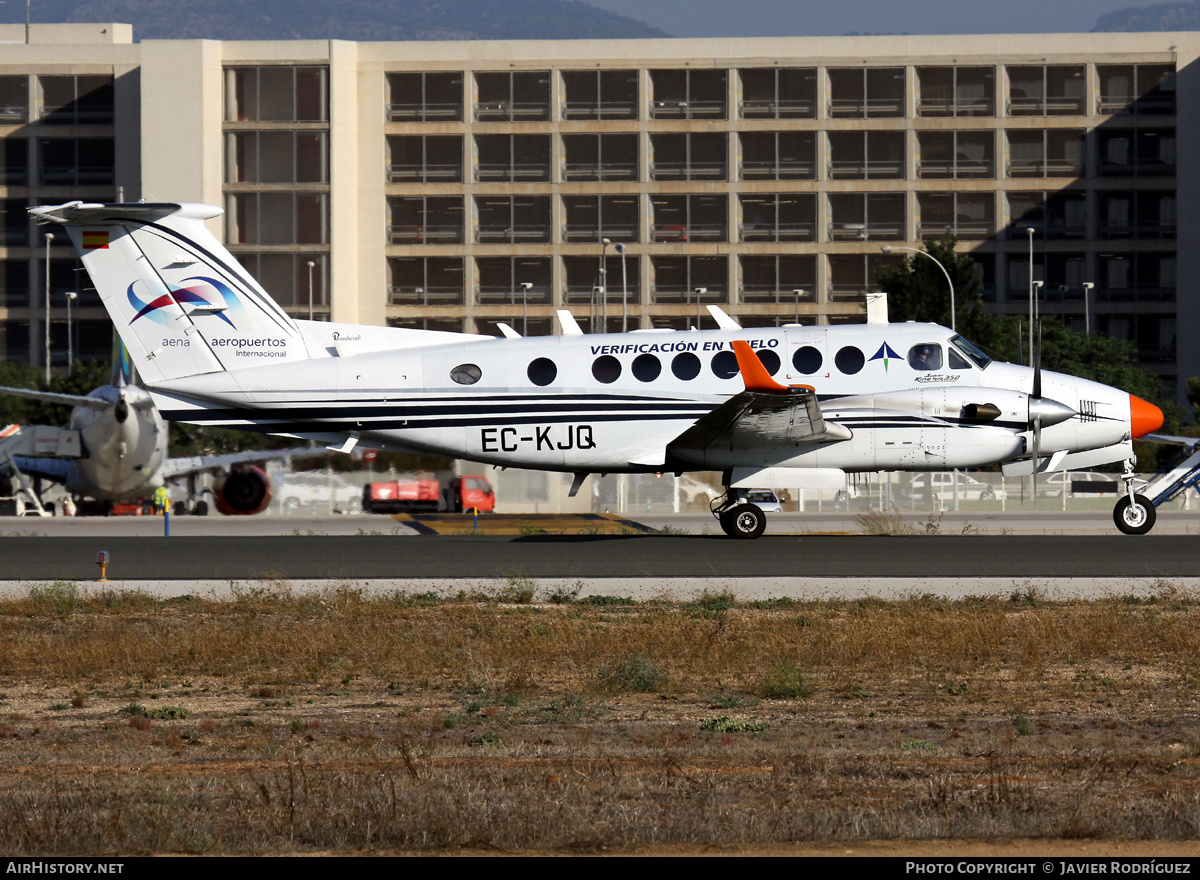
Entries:
[[0, 539], [0, 580], [1195, 577], [1196, 539], [1122, 535], [394, 535]]

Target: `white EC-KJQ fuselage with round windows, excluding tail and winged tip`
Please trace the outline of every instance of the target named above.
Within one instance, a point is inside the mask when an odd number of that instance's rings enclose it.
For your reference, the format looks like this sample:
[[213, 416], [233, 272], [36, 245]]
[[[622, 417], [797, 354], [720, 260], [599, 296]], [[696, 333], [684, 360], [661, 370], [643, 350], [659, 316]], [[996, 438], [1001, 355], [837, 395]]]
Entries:
[[[330, 333], [298, 324], [306, 337]], [[1028, 447], [1033, 370], [989, 361], [935, 324], [463, 339], [193, 376], [154, 393], [168, 419], [337, 442], [350, 433], [367, 445], [548, 471], [940, 471], [994, 465]], [[824, 419], [850, 438], [672, 445], [744, 389], [733, 340], [749, 342], [780, 384], [812, 388]], [[1042, 396], [1075, 413], [1044, 426], [1044, 449], [1129, 439], [1124, 391], [1044, 371]], [[223, 406], [202, 408], [214, 402]], [[982, 405], [998, 412], [965, 414]]]

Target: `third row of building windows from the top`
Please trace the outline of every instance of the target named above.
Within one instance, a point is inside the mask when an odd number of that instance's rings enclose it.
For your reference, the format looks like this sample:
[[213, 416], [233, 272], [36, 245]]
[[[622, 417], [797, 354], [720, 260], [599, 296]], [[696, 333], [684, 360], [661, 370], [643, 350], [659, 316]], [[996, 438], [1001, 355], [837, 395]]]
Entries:
[[[323, 216], [319, 193], [248, 193], [232, 196], [236, 239], [245, 244], [324, 241], [324, 238], [280, 240], [305, 228], [318, 234]], [[912, 202], [910, 202], [910, 198]], [[274, 211], [269, 211], [277, 202]], [[293, 199], [293, 200], [289, 200]], [[1028, 231], [1038, 240], [1054, 239], [1170, 239], [1175, 238], [1174, 190], [1102, 190], [1093, 196], [1097, 228], [1088, 228], [1086, 191], [1013, 190], [1002, 193], [1003, 223], [997, 223], [997, 193], [988, 192], [835, 192], [739, 193], [734, 197], [733, 227], [730, 198], [710, 193], [656, 193], [647, 197], [644, 240], [659, 244], [712, 241], [820, 241], [826, 223], [827, 241], [904, 241], [908, 214], [914, 214], [916, 238], [954, 235], [984, 240], [997, 234], [1024, 240]], [[822, 203], [824, 210], [821, 210]], [[390, 245], [462, 245], [468, 231], [478, 244], [588, 244], [643, 240], [642, 202], [637, 194], [563, 196], [559, 235], [552, 222], [551, 196], [476, 196], [469, 220], [462, 196], [392, 196], [388, 198]], [[274, 226], [263, 227], [260, 215], [271, 214]], [[293, 226], [284, 223], [295, 216]], [[311, 216], [310, 216], [311, 215]], [[242, 220], [245, 217], [245, 221]], [[254, 226], [258, 223], [258, 226]], [[278, 226], [283, 223], [284, 226]], [[286, 227], [286, 228], [284, 228]], [[305, 233], [310, 234], [310, 233]], [[323, 232], [319, 233], [324, 235]], [[257, 237], [257, 238], [254, 238]]]

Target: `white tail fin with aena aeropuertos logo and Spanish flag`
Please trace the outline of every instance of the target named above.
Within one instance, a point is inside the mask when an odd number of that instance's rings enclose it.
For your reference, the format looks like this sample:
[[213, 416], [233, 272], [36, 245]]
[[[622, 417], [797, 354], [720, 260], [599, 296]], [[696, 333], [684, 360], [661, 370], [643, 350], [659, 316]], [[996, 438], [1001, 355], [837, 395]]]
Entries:
[[295, 322], [204, 226], [220, 208], [31, 208], [71, 237], [130, 360], [151, 385], [308, 357]]

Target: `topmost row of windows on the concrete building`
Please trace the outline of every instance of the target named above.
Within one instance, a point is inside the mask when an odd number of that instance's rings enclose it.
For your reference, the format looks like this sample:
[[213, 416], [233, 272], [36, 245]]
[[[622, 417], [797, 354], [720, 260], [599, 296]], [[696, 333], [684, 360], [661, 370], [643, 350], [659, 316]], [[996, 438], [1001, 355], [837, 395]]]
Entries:
[[[269, 71], [271, 68], [253, 68]], [[1088, 107], [1085, 64], [918, 66], [914, 108], [919, 116], [1058, 116], [1175, 113], [1171, 64], [1096, 65], [1096, 102]], [[262, 74], [260, 74], [262, 76]], [[557, 118], [566, 121], [730, 119], [730, 84], [739, 119], [816, 119], [816, 67], [661, 68], [646, 71], [647, 106], [641, 113], [640, 71], [394, 72], [388, 74], [386, 118], [392, 122], [462, 121], [470, 107], [480, 122], [548, 121], [553, 95]], [[824, 70], [829, 119], [907, 115], [905, 67], [858, 66]], [[1000, 83], [997, 88], [997, 82]], [[256, 85], [236, 86], [236, 107], [254, 113]], [[280, 92], [283, 85], [275, 86]], [[246, 97], [242, 97], [242, 95]], [[997, 97], [1000, 100], [997, 100]], [[238, 119], [276, 118], [239, 115]]]

